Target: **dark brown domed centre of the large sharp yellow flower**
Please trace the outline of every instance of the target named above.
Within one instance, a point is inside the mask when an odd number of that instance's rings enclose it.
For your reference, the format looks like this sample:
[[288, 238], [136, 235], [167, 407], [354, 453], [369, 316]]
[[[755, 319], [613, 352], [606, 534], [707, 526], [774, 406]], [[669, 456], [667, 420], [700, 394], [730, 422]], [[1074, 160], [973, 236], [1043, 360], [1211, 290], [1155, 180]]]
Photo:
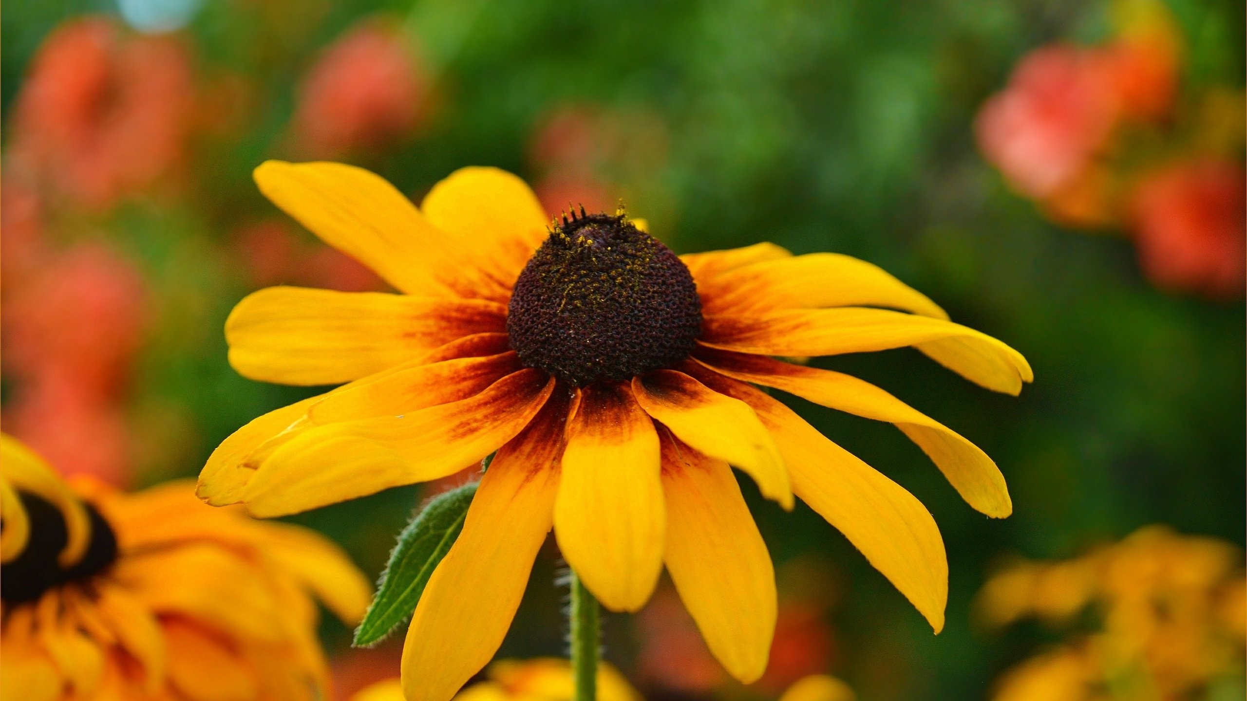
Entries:
[[622, 215], [564, 217], [515, 282], [506, 331], [520, 362], [582, 387], [688, 357], [701, 333], [688, 268]]

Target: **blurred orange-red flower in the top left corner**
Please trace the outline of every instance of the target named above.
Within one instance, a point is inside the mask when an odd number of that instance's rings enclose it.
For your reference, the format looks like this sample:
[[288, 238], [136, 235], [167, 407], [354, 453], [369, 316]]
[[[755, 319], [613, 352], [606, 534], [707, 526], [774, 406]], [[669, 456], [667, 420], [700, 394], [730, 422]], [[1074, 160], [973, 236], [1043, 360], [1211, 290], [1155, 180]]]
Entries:
[[75, 205], [106, 208], [180, 163], [193, 106], [180, 37], [130, 34], [106, 17], [75, 19], [32, 60], [9, 162]]

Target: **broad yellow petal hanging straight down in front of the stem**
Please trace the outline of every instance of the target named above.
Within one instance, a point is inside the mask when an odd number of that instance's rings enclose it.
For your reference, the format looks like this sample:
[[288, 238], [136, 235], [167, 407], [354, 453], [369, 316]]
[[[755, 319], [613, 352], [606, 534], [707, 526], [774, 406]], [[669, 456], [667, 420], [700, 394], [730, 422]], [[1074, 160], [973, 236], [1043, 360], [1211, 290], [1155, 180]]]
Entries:
[[581, 390], [555, 501], [559, 548], [602, 605], [636, 611], [662, 573], [658, 434], [625, 384]]

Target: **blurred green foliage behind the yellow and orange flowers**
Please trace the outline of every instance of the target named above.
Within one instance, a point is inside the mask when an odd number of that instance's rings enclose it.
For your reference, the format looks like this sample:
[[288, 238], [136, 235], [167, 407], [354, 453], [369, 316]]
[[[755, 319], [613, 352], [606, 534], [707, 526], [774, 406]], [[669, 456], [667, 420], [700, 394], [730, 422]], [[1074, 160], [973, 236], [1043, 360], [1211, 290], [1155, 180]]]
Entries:
[[[1198, 37], [1186, 79], [1242, 86], [1242, 2], [1171, 6]], [[981, 699], [1000, 670], [1034, 650], [1047, 634], [990, 634], [970, 621], [971, 596], [1004, 555], [1066, 556], [1151, 523], [1242, 545], [1243, 304], [1155, 289], [1129, 242], [1045, 222], [974, 146], [975, 110], [1020, 56], [1104, 34], [1104, 4], [1069, 0], [207, 4], [187, 30], [197, 65], [258, 81], [256, 118], [201, 145], [183, 198], [64, 223], [70, 237], [118, 242], [155, 291], [158, 323], [132, 402], [176, 407], [193, 430], [145, 480], [196, 473], [231, 430], [304, 395], [228, 367], [222, 324], [248, 289], [221, 242], [241, 221], [276, 213], [251, 168], [283, 155], [293, 86], [317, 50], [377, 10], [407, 17], [440, 67], [433, 121], [360, 161], [405, 192], [471, 163], [535, 176], [530, 135], [556, 105], [651, 110], [667, 125], [667, 156], [621, 180], [635, 193], [630, 210], [677, 252], [766, 239], [858, 256], [1030, 359], [1036, 382], [1020, 398], [990, 394], [909, 350], [819, 362], [884, 387], [993, 455], [1015, 504], [1006, 520], [961, 503], [892, 427], [794, 404], [934, 513], [951, 570], [939, 636], [829, 525], [804, 506], [782, 513], [742, 480], [777, 561], [813, 553], [842, 573], [832, 671], [863, 699]], [[86, 11], [115, 10], [7, 4], [6, 114], [41, 39]], [[418, 499], [419, 489], [398, 489], [297, 520], [345, 544], [375, 575]], [[504, 655], [561, 651], [554, 568], [552, 558], [539, 564]], [[626, 669], [631, 622], [607, 625], [606, 656]], [[332, 646], [348, 640], [333, 626], [325, 634]]]

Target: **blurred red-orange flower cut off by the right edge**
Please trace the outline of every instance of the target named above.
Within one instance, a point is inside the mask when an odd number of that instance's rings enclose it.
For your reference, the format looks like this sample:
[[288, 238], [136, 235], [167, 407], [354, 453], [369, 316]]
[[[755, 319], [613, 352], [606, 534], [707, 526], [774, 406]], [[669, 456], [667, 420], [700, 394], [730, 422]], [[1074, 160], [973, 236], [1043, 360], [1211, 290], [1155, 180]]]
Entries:
[[1142, 178], [1131, 213], [1147, 277], [1168, 289], [1242, 297], [1247, 284], [1245, 188], [1243, 166], [1232, 162], [1192, 161]]

